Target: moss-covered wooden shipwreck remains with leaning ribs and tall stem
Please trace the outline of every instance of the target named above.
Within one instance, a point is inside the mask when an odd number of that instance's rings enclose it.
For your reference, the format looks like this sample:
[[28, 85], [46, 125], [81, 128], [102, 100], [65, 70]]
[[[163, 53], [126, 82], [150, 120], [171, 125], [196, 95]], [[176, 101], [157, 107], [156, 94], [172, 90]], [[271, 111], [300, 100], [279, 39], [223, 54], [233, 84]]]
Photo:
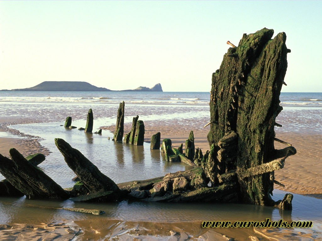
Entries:
[[[37, 169], [37, 163], [31, 164], [15, 149], [10, 150], [12, 160], [0, 155], [0, 172], [7, 179], [0, 187], [5, 187], [7, 195], [24, 194], [28, 198], [248, 202], [291, 209], [292, 194], [277, 202], [271, 199], [274, 183], [282, 185], [275, 180], [274, 171], [283, 168], [285, 159], [296, 153], [289, 143], [275, 138], [274, 127], [281, 127], [275, 119], [282, 110], [279, 95], [290, 50], [285, 45], [285, 33], [279, 33], [274, 39], [272, 36], [273, 30], [264, 28], [244, 34], [238, 47], [227, 42], [232, 48], [212, 78], [211, 120], [207, 124], [210, 125], [210, 151], [203, 155], [198, 148], [195, 150], [192, 131], [185, 143], [185, 153], [182, 144], [176, 149], [171, 147], [170, 139], [163, 140], [161, 151], [166, 161], [185, 162], [195, 166], [194, 169], [117, 185], [80, 151], [56, 138], [57, 148], [78, 176], [79, 181], [73, 188], [63, 190]], [[91, 124], [91, 109], [89, 115]], [[86, 126], [89, 132], [91, 125]], [[124, 102], [118, 109], [116, 141], [122, 142], [123, 125]], [[160, 133], [157, 134], [151, 148], [160, 147]], [[137, 116], [123, 142], [141, 145], [143, 139], [144, 124]], [[274, 141], [288, 147], [276, 150]]]

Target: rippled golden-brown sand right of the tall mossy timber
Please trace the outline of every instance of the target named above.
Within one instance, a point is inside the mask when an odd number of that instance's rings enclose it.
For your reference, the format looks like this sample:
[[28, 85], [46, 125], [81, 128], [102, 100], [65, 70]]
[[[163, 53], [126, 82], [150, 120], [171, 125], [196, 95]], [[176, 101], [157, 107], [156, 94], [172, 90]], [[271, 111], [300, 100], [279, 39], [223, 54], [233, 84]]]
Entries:
[[[286, 159], [283, 169], [275, 171], [276, 180], [285, 185], [275, 185], [275, 188], [322, 198], [322, 134], [282, 132], [276, 137], [292, 144], [297, 153]], [[280, 143], [275, 145], [275, 148], [284, 147]]]

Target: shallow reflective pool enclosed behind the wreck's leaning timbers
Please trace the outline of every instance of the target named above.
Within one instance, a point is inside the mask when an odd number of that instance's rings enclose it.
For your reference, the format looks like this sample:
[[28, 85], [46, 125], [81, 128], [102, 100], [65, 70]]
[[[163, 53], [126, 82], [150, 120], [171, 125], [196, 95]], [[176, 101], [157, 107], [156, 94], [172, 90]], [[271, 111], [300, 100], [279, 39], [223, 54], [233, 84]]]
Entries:
[[[96, 125], [99, 126], [100, 121], [106, 122], [105, 119], [95, 120]], [[85, 123], [73, 122], [73, 125], [78, 124]], [[89, 134], [78, 129], [64, 128], [59, 122], [15, 125], [12, 128], [43, 139], [40, 143], [52, 153], [39, 167], [63, 188], [73, 186], [71, 179], [75, 174], [55, 146], [55, 138], [62, 138], [71, 147], [80, 150], [102, 173], [116, 183], [144, 180], [191, 168], [180, 162], [165, 162], [164, 154], [160, 153], [160, 150], [151, 150], [148, 143], [136, 146], [114, 142], [113, 134], [108, 130], [104, 130], [102, 135]]]

